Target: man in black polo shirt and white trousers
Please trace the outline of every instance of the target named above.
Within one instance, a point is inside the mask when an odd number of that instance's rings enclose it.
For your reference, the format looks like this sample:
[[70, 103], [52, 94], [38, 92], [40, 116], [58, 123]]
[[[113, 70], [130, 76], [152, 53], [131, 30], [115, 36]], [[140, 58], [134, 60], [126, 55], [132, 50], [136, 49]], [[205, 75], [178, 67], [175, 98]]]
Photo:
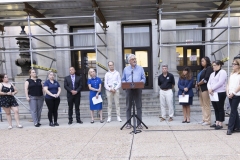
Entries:
[[162, 65], [162, 74], [158, 77], [158, 85], [160, 87], [160, 107], [161, 107], [161, 122], [167, 118], [166, 108], [169, 111], [169, 122], [173, 120], [173, 91], [172, 88], [175, 85], [174, 77], [168, 72], [168, 65]]

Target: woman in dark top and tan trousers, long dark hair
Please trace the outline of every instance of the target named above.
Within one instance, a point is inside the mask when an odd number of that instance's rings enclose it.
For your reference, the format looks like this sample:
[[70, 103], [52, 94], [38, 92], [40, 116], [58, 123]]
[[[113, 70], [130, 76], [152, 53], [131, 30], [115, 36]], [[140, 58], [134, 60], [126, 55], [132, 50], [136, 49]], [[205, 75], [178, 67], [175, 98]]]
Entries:
[[201, 59], [203, 70], [197, 75], [196, 88], [199, 90], [200, 106], [202, 108], [202, 121], [199, 124], [205, 126], [211, 124], [211, 106], [207, 88], [207, 83], [211, 73], [213, 72], [209, 57]]

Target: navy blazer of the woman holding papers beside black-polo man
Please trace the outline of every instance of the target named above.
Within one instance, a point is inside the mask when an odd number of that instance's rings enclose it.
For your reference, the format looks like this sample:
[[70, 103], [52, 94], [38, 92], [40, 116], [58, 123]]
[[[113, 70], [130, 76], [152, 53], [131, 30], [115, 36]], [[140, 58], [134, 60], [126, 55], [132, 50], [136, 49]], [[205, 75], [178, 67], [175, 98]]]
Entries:
[[[193, 86], [193, 78], [188, 80], [188, 79], [179, 79], [178, 80], [178, 95], [182, 95], [183, 93], [186, 95], [189, 95], [189, 97], [193, 97], [193, 90], [192, 90], [192, 86]], [[185, 92], [184, 88], [188, 88], [188, 91]]]

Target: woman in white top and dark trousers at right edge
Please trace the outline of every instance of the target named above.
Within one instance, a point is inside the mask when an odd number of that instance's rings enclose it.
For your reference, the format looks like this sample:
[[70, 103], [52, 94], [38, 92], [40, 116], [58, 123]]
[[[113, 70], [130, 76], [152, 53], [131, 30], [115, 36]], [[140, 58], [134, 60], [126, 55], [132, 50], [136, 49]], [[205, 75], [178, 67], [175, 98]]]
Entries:
[[238, 105], [240, 102], [240, 59], [233, 61], [232, 68], [233, 70], [227, 84], [227, 96], [231, 106], [227, 135], [231, 135], [234, 131], [240, 131], [238, 115]]

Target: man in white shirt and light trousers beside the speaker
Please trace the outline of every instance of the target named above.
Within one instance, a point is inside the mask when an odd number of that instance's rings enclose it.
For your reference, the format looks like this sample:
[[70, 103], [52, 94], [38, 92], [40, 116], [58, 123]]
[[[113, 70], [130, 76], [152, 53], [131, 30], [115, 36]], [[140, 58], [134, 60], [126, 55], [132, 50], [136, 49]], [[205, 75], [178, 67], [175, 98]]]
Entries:
[[120, 118], [120, 106], [119, 106], [119, 88], [121, 87], [121, 77], [118, 71], [114, 69], [114, 63], [108, 62], [109, 71], [105, 74], [104, 87], [106, 88], [106, 95], [108, 100], [108, 120], [111, 122], [112, 117], [112, 99], [114, 98], [117, 120], [122, 122]]

